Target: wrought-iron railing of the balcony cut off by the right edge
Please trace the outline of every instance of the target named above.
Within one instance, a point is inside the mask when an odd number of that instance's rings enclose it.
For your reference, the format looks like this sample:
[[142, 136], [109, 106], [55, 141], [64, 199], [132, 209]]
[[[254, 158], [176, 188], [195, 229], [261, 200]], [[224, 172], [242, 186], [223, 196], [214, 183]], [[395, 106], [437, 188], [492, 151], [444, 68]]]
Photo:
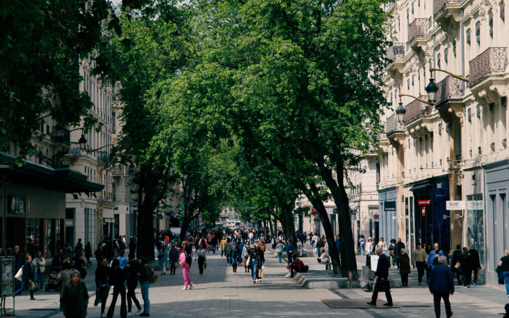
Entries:
[[468, 78], [470, 80], [468, 85], [472, 86], [488, 74], [505, 71], [507, 66], [507, 48], [489, 47], [470, 61], [469, 65], [470, 74]]

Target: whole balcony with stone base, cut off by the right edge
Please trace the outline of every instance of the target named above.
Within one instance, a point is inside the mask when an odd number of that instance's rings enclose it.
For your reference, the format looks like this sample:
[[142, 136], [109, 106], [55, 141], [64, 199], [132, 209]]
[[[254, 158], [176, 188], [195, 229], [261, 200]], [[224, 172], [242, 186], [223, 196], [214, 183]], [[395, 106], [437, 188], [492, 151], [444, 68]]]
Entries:
[[507, 94], [507, 48], [490, 47], [470, 61], [469, 87], [481, 104], [493, 103]]

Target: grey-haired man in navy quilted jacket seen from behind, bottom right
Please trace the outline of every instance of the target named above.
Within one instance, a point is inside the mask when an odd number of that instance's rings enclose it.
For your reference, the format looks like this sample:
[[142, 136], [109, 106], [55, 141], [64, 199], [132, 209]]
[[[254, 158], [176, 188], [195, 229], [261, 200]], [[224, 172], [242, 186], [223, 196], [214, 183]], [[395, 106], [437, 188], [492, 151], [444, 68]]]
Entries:
[[453, 315], [450, 310], [449, 294], [454, 294], [454, 277], [453, 272], [447, 266], [447, 258], [443, 255], [438, 256], [438, 264], [433, 266], [430, 278], [428, 279], [428, 287], [433, 295], [435, 304], [435, 314], [440, 317], [440, 301], [443, 298], [445, 305], [445, 314], [447, 318]]

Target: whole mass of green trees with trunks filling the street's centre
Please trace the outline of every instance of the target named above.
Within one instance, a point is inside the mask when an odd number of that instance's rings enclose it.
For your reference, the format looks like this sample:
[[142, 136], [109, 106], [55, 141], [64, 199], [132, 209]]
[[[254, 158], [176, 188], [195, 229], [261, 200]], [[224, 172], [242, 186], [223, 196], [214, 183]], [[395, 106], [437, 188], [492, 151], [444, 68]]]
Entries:
[[[386, 2], [158, 0], [117, 8], [120, 30], [95, 56], [122, 107], [112, 163], [137, 167], [140, 251], [152, 250], [152, 212], [175, 182], [184, 193], [181, 238], [199, 213], [214, 219], [226, 202], [280, 221], [294, 237], [293, 202], [304, 194], [334, 272], [357, 278], [346, 188], [349, 167], [372, 151], [386, 104]], [[342, 264], [324, 207], [330, 199]]]

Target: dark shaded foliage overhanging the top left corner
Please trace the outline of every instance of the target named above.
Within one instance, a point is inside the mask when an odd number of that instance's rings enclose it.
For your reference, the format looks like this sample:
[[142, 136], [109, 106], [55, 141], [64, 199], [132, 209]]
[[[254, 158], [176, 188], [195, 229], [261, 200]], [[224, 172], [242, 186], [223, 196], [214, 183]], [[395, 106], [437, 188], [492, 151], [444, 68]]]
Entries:
[[[140, 8], [145, 0], [124, 0]], [[90, 97], [80, 92], [80, 59], [92, 60], [105, 47], [104, 31], [121, 35], [119, 20], [107, 0], [6, 0], [0, 2], [0, 151], [18, 144], [19, 157], [32, 150], [32, 138], [46, 117], [63, 125], [87, 129], [96, 120], [88, 115]], [[95, 60], [96, 68], [107, 68]]]

